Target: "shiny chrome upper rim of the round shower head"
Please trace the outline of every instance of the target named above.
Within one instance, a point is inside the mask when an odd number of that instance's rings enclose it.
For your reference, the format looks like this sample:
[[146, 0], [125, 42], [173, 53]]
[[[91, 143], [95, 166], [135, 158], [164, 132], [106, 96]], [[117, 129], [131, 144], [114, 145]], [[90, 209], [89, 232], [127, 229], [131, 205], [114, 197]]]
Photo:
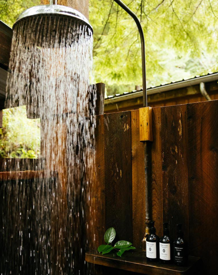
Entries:
[[72, 9], [70, 7], [62, 6], [62, 5], [40, 5], [34, 6], [26, 11], [23, 11], [18, 18], [16, 19], [14, 26], [22, 19], [27, 17], [32, 17], [36, 15], [63, 15], [63, 16], [70, 16], [72, 18], [76, 18], [77, 20], [82, 21], [86, 26], [90, 28], [93, 33], [93, 28], [90, 25], [88, 19], [79, 11]]

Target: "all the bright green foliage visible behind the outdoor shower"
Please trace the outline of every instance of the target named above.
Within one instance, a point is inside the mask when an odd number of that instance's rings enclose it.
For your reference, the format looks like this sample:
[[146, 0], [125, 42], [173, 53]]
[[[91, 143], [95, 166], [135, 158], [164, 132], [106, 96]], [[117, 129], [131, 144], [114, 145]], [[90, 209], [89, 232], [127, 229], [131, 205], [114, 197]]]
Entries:
[[[140, 18], [146, 40], [147, 87], [217, 72], [216, 0], [123, 0]], [[0, 0], [0, 20], [13, 26], [40, 0]], [[142, 85], [140, 37], [134, 20], [113, 0], [89, 0], [94, 30], [95, 82], [107, 95]], [[4, 110], [0, 130], [2, 157], [37, 157], [40, 123], [25, 107]], [[10, 141], [10, 142], [9, 142]]]

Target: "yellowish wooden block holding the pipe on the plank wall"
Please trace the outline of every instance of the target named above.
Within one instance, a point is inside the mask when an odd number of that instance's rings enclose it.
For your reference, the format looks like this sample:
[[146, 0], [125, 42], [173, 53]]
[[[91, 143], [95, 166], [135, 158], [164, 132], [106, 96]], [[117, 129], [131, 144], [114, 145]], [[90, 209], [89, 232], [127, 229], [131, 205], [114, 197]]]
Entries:
[[152, 108], [139, 108], [139, 137], [140, 141], [153, 141]]

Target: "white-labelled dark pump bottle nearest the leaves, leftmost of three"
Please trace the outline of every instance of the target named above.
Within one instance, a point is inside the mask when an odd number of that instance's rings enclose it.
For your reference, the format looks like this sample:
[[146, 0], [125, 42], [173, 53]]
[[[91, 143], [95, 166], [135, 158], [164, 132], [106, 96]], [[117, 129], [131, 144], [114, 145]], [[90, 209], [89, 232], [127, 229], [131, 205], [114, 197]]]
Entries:
[[150, 235], [146, 238], [146, 258], [149, 261], [159, 260], [159, 237], [155, 232], [154, 222], [151, 222]]

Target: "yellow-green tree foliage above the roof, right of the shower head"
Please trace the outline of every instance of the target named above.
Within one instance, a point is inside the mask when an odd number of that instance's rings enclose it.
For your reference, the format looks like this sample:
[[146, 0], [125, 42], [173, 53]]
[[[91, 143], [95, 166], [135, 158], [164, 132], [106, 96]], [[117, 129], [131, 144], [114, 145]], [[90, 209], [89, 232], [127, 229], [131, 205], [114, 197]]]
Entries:
[[[123, 2], [142, 23], [148, 87], [217, 71], [217, 1]], [[89, 3], [97, 82], [132, 85], [132, 89], [142, 85], [140, 37], [134, 20], [113, 0]]]

